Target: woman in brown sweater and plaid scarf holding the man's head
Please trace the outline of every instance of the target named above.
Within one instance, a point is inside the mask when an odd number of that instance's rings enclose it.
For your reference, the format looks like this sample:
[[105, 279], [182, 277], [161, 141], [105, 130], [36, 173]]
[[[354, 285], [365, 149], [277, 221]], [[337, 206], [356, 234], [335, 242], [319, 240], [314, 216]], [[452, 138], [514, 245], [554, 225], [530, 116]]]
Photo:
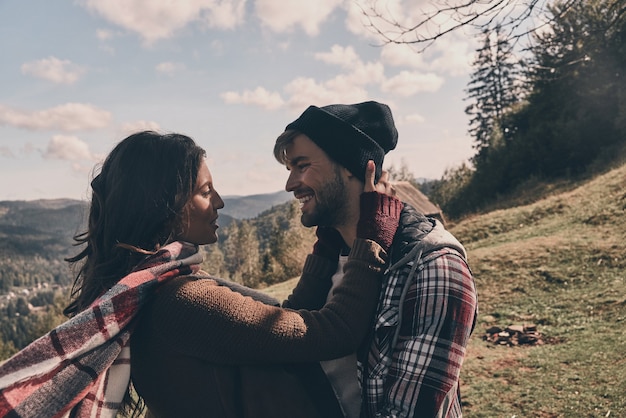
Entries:
[[[178, 134], [124, 139], [92, 181], [88, 229], [76, 238], [85, 247], [70, 259], [82, 263], [72, 318], [0, 367], [0, 412], [114, 416], [130, 364], [154, 416], [337, 414], [332, 393], [314, 398], [306, 362], [355, 351], [376, 307], [391, 244], [381, 237], [401, 205], [374, 192], [369, 171], [343, 284], [319, 311], [296, 311], [198, 271], [198, 245], [217, 241], [224, 205], [204, 151]], [[328, 290], [340, 247], [336, 231], [318, 230], [301, 279], [312, 299]], [[33, 368], [39, 377], [25, 380]]]

